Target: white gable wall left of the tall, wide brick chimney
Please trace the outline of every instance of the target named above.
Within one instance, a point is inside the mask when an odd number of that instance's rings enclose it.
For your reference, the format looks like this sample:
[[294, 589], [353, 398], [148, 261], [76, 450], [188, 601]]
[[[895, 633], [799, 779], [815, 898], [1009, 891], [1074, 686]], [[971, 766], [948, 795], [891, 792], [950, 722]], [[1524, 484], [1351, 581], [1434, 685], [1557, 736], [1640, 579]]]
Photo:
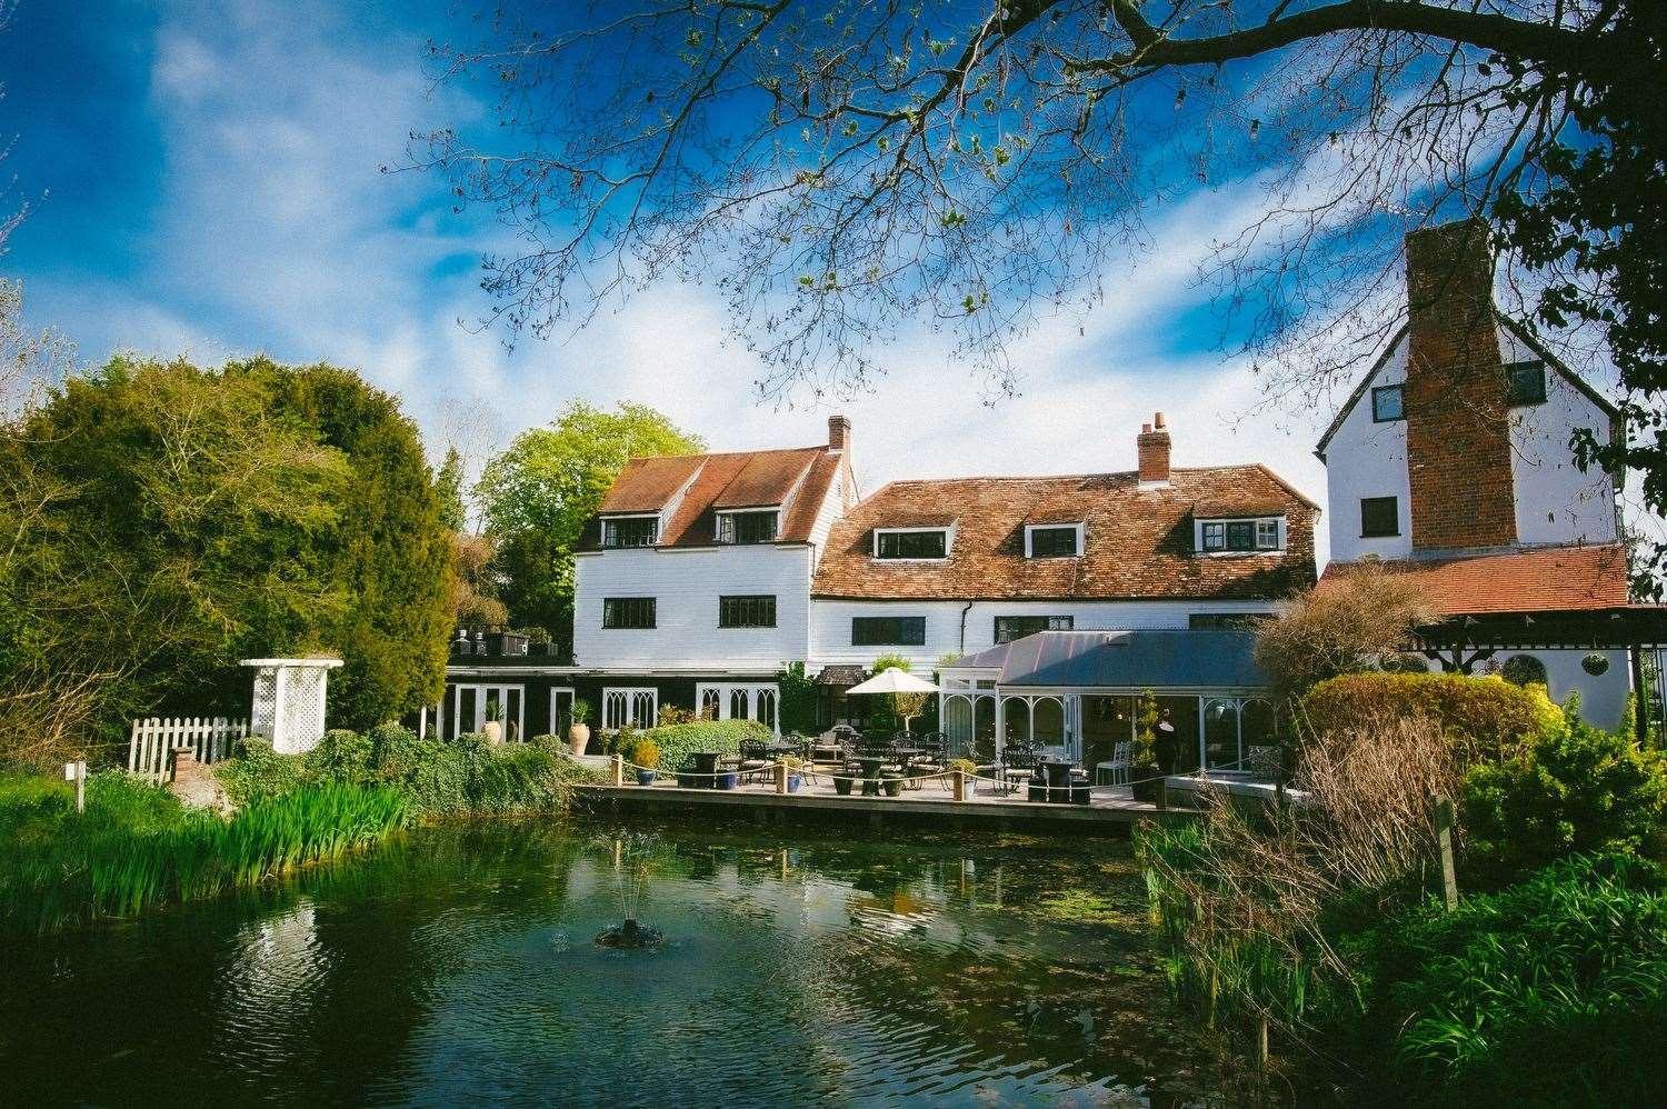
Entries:
[[[1372, 422], [1372, 389], [1407, 380], [1407, 339], [1402, 337], [1382, 369], [1360, 394], [1360, 402], [1344, 417], [1325, 445], [1325, 517], [1332, 537], [1332, 562], [1354, 562], [1360, 555], [1405, 559], [1412, 554], [1412, 485], [1407, 480], [1407, 422]], [[1360, 537], [1360, 499], [1395, 497], [1400, 535]]]

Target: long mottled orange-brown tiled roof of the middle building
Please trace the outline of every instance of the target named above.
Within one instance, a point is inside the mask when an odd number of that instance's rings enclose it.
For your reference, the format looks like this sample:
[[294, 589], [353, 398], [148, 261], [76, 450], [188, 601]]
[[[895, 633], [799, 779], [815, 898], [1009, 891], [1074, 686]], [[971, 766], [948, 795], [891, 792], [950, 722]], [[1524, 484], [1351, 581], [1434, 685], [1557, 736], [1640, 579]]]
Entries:
[[[1280, 505], [1289, 549], [1194, 555], [1194, 505], [1229, 499]], [[912, 600], [1285, 597], [1314, 584], [1315, 512], [1260, 465], [1177, 469], [1159, 489], [1140, 489], [1134, 472], [894, 482], [834, 525], [812, 592]], [[955, 520], [947, 559], [870, 557], [874, 529], [925, 519]], [[1024, 557], [1025, 524], [1077, 520], [1087, 524], [1084, 557]]]

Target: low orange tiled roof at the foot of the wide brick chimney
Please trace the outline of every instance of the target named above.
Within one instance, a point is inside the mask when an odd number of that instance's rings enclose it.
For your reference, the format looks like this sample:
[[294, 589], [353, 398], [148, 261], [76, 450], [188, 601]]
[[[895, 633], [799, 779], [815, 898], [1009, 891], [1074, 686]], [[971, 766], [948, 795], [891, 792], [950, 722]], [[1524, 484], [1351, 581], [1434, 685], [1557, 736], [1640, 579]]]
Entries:
[[[1345, 577], [1355, 562], [1334, 562], [1324, 580]], [[1629, 602], [1627, 552], [1619, 544], [1544, 547], [1442, 560], [1384, 560], [1380, 567], [1417, 580], [1437, 615], [1574, 612]]]

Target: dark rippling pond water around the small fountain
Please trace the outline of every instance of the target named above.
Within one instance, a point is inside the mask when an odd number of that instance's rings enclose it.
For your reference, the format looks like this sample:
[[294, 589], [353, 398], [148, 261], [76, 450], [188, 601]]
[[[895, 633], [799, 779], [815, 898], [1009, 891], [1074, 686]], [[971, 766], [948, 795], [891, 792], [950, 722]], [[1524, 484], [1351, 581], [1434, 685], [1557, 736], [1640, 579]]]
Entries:
[[[0, 1102], [1159, 1104], [1212, 1087], [1127, 844], [427, 829], [8, 942]], [[653, 951], [593, 937], [645, 869]]]

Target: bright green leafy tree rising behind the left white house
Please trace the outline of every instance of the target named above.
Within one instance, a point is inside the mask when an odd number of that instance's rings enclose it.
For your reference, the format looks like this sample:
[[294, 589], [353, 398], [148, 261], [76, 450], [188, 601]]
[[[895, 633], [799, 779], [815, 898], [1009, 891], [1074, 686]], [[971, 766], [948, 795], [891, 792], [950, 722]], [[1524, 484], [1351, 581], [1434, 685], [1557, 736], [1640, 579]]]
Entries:
[[570, 644], [573, 547], [613, 479], [630, 459], [700, 450], [698, 435], [640, 404], [605, 412], [575, 400], [550, 427], [517, 435], [475, 487], [510, 619]]

